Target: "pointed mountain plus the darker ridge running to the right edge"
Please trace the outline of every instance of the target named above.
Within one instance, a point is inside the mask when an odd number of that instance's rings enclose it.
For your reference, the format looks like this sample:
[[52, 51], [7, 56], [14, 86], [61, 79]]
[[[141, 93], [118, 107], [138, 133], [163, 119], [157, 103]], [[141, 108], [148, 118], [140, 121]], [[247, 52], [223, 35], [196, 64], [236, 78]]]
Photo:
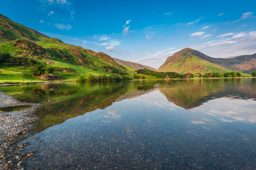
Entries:
[[[255, 55], [238, 56], [235, 58], [212, 58], [197, 50], [185, 48], [169, 56], [157, 71], [175, 71], [184, 73], [227, 73], [239, 71], [251, 74], [254, 69]], [[256, 66], [256, 63], [255, 63]], [[246, 71], [247, 70], [247, 71]]]

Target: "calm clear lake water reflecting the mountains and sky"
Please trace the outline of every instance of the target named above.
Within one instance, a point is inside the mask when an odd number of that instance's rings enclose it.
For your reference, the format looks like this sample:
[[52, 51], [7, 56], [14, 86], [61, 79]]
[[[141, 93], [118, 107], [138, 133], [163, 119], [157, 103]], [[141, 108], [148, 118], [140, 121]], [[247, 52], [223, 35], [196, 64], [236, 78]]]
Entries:
[[28, 169], [256, 169], [256, 79], [0, 87], [41, 103]]

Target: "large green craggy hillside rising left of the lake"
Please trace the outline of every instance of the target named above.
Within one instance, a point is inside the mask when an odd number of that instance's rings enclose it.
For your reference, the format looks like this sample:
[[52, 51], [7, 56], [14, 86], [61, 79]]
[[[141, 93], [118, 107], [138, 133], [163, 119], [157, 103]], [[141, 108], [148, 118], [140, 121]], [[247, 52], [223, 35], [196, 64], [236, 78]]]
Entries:
[[[19, 72], [12, 78], [40, 80], [30, 75], [29, 66], [41, 64], [44, 68], [54, 69], [54, 75], [63, 79], [74, 79], [78, 75], [100, 75], [126, 72], [112, 57], [102, 52], [95, 52], [50, 38], [39, 31], [16, 23], [0, 14], [0, 53], [9, 57], [1, 58], [0, 68], [3, 73]], [[30, 59], [30, 60], [29, 60]], [[40, 68], [41, 68], [40, 66]], [[12, 73], [13, 74], [13, 73]], [[30, 76], [29, 76], [30, 75]], [[0, 75], [0, 79], [11, 76]], [[8, 77], [8, 78], [5, 78]]]

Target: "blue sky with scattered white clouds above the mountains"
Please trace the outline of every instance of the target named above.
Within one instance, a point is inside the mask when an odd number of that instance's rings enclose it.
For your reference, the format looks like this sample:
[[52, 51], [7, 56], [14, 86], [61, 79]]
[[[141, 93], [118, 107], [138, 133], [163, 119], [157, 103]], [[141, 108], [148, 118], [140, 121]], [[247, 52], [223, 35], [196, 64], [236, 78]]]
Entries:
[[186, 47], [256, 53], [256, 1], [1, 1], [0, 13], [63, 42], [158, 69]]

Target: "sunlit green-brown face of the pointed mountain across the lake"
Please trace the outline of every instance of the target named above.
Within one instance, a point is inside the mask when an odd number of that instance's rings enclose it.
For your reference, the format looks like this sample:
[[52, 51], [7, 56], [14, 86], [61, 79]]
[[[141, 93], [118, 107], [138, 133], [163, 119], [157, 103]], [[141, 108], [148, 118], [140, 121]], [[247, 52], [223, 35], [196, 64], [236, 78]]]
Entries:
[[[174, 71], [180, 74], [204, 74], [210, 72], [218, 72], [223, 74], [231, 72], [231, 70], [225, 69], [218, 66], [217, 64], [209, 62], [208, 60], [206, 60], [207, 57], [209, 56], [206, 56], [197, 50], [185, 48], [175, 53], [173, 56], [169, 56], [165, 63], [157, 71]], [[249, 75], [243, 74], [243, 76]]]

